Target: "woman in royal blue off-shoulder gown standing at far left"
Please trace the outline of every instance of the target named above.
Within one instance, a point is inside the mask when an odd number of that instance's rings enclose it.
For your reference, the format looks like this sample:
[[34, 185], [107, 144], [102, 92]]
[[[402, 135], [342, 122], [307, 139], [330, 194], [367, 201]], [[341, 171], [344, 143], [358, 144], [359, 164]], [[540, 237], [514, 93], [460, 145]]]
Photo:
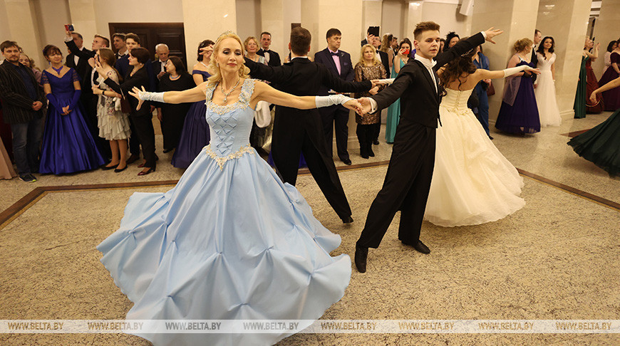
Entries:
[[66, 174], [100, 167], [105, 159], [88, 130], [79, 103], [80, 76], [73, 68], [63, 66], [58, 47], [46, 46], [43, 56], [51, 66], [41, 75], [49, 106], [39, 172]]

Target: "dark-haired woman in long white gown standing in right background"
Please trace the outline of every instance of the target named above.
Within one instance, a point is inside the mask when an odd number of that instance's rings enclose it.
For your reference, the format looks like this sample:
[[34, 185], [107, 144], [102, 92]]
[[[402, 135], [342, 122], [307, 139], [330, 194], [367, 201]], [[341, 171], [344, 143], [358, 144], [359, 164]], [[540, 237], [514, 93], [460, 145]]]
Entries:
[[562, 123], [555, 98], [556, 55], [553, 53], [554, 46], [554, 39], [547, 36], [542, 39], [542, 45], [539, 46], [536, 53], [537, 68], [540, 69], [540, 75], [536, 78], [534, 95], [536, 95], [536, 104], [538, 105], [540, 127], [559, 126]]

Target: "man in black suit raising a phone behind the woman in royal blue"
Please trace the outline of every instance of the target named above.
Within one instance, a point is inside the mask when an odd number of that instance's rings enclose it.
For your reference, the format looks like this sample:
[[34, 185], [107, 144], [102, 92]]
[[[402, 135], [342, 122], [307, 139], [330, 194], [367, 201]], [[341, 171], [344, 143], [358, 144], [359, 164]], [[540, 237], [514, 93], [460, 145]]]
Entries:
[[110, 46], [110, 40], [103, 36], [95, 35], [91, 44], [91, 50], [88, 50], [83, 46], [81, 34], [75, 31], [66, 31], [65, 44], [71, 52], [67, 56], [66, 65], [74, 68], [78, 75], [80, 75], [80, 84], [82, 85], [80, 102], [86, 112], [84, 115], [87, 117], [88, 129], [91, 130], [91, 135], [93, 135], [100, 150], [103, 150], [103, 154], [106, 157], [111, 157], [110, 145], [108, 145], [105, 139], [99, 137], [97, 119], [97, 102], [99, 98], [97, 95], [93, 95], [93, 86], [98, 85], [97, 78], [99, 77], [97, 71], [93, 68], [95, 66], [93, 58], [99, 48], [108, 48]]

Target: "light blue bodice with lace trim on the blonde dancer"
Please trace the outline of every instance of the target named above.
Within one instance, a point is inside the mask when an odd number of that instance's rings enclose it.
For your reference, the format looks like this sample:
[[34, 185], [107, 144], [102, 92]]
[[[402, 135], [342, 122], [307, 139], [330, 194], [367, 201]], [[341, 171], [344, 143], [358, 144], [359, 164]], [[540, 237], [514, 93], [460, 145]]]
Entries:
[[239, 100], [230, 105], [216, 105], [212, 102], [215, 86], [207, 88], [207, 123], [211, 131], [211, 143], [205, 147], [205, 152], [215, 159], [219, 167], [229, 159], [242, 157], [244, 153], [254, 154], [249, 145], [249, 132], [252, 131], [254, 110], [249, 107], [249, 101], [254, 92], [256, 80], [244, 80]]

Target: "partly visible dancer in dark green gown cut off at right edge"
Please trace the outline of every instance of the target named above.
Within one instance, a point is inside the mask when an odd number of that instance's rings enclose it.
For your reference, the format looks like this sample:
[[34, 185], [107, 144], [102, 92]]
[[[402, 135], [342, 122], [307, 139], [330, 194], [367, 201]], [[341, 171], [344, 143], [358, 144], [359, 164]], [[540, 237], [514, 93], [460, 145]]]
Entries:
[[[596, 95], [620, 86], [620, 78], [601, 86], [592, 92], [590, 100], [596, 102]], [[579, 156], [605, 169], [611, 176], [620, 176], [620, 109], [588, 132], [569, 140], [568, 145]]]

